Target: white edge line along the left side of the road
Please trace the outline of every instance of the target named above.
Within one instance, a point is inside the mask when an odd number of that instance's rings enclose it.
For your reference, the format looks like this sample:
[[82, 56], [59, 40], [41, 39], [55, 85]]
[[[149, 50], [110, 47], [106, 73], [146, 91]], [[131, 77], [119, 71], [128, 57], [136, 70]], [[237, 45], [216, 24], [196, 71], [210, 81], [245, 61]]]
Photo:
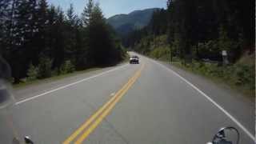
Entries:
[[20, 102], [16, 102], [15, 105], [19, 105], [19, 104], [22, 104], [22, 103], [24, 103], [24, 102], [28, 102], [28, 101], [30, 101], [30, 100], [32, 100], [32, 99], [34, 99], [34, 98], [42, 97], [43, 95], [53, 93], [54, 91], [57, 91], [57, 90], [65, 89], [66, 87], [69, 87], [69, 86], [74, 86], [74, 85], [76, 85], [76, 84], [78, 84], [78, 83], [85, 82], [85, 81], [87, 81], [87, 80], [89, 80], [89, 79], [96, 78], [96, 77], [98, 77], [98, 76], [102, 76], [103, 74], [108, 74], [108, 73], [110, 73], [110, 72], [112, 72], [112, 71], [114, 71], [114, 70], [121, 69], [122, 67], [125, 67], [125, 66], [128, 66], [128, 64], [123, 65], [123, 66], [118, 66], [117, 68], [114, 68], [114, 69], [112, 69], [112, 70], [105, 71], [105, 72], [103, 72], [103, 73], [101, 73], [101, 74], [96, 74], [96, 75], [91, 76], [91, 77], [89, 77], [89, 78], [84, 78], [84, 79], [82, 79], [82, 80], [80, 80], [80, 81], [78, 81], [78, 82], [73, 82], [73, 83], [70, 83], [70, 84], [68, 84], [68, 85], [66, 85], [66, 86], [61, 86], [61, 87], [58, 87], [57, 89], [49, 90], [49, 91], [46, 91], [45, 93], [38, 94], [38, 95], [35, 95], [35, 96], [33, 96], [33, 97], [30, 97], [30, 98], [23, 99], [23, 100], [20, 101]]

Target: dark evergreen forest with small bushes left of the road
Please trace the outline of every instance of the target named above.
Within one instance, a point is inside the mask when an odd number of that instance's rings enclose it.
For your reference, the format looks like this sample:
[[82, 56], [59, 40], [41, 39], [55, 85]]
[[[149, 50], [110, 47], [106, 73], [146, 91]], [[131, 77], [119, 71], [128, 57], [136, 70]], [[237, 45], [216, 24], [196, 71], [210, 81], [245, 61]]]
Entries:
[[14, 82], [48, 78], [124, 57], [121, 41], [90, 0], [81, 16], [46, 0], [0, 0], [0, 56], [10, 64]]

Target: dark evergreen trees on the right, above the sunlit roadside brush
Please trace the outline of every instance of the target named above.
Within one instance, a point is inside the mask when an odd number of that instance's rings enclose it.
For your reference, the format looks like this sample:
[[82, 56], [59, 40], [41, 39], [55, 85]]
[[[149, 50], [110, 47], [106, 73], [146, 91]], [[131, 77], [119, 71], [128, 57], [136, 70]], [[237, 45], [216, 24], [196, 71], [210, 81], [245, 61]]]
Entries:
[[168, 0], [167, 10], [155, 11], [149, 26], [131, 33], [124, 44], [134, 47], [143, 38], [154, 42], [162, 34], [180, 58], [221, 61], [220, 52], [227, 50], [230, 62], [236, 62], [242, 52], [254, 52], [254, 1]]

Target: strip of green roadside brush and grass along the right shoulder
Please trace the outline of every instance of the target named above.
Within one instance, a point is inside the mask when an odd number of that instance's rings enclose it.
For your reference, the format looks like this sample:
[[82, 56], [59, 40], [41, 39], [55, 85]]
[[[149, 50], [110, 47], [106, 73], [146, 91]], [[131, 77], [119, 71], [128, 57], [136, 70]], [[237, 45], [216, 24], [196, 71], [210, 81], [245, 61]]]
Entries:
[[182, 70], [201, 75], [218, 85], [227, 86], [230, 90], [234, 90], [248, 98], [255, 97], [254, 54], [244, 55], [237, 63], [230, 66], [218, 66], [217, 63], [198, 61], [184, 65], [179, 58], [175, 57], [173, 62], [170, 62], [169, 54], [163, 54], [157, 60], [168, 62]]

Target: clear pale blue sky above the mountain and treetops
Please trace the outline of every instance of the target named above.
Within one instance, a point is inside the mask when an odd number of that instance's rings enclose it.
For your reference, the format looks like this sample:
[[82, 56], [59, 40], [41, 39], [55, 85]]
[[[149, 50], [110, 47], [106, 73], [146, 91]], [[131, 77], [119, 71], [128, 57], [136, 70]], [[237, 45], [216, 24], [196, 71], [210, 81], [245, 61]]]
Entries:
[[[61, 6], [63, 10], [73, 3], [75, 12], [81, 14], [88, 0], [48, 0], [49, 4]], [[146, 8], [166, 8], [166, 0], [94, 0], [99, 2], [103, 14], [106, 18], [114, 14], [128, 14], [133, 10], [143, 10]]]

